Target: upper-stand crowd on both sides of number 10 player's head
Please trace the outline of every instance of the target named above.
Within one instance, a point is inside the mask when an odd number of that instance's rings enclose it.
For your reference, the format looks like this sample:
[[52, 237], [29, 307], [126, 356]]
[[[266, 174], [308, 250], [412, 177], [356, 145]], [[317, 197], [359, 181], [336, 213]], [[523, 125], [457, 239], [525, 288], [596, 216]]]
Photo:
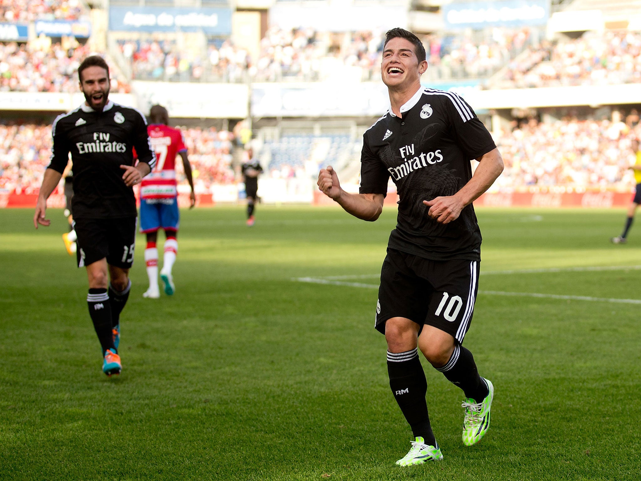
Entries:
[[[528, 29], [494, 29], [487, 38], [428, 35], [429, 80], [487, 78], [531, 42]], [[134, 78], [172, 81], [322, 81], [380, 78], [383, 31], [319, 32], [272, 27], [255, 58], [230, 40], [207, 49], [188, 49], [176, 40], [119, 43]]]

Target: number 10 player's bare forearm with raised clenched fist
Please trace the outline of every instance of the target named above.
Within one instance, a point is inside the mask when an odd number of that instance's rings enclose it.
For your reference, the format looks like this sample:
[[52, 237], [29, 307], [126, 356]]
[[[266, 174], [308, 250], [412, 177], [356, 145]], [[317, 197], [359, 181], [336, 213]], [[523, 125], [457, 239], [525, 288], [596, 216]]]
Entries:
[[383, 194], [350, 194], [340, 187], [338, 175], [330, 166], [321, 169], [317, 181], [320, 191], [335, 200], [345, 212], [363, 219], [363, 221], [376, 221], [383, 212]]

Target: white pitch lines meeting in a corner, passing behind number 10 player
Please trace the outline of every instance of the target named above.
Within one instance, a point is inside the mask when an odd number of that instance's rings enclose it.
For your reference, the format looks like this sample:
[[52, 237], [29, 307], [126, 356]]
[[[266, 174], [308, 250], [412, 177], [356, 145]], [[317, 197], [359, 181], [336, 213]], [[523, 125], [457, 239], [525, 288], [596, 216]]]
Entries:
[[[603, 266], [603, 267], [568, 267], [559, 269], [523, 269], [520, 271], [488, 271], [486, 274], [515, 274], [515, 273], [554, 273], [554, 272], [581, 272], [581, 271], [619, 271], [619, 270], [638, 270], [641, 266]], [[483, 273], [481, 273], [483, 274]], [[324, 277], [298, 277], [292, 278], [296, 282], [307, 282], [324, 285], [341, 285], [345, 287], [360, 287], [364, 289], [378, 289], [378, 284], [366, 284], [362, 282], [346, 282], [339, 279], [367, 279], [378, 278], [379, 274], [360, 274], [353, 276], [324, 276]], [[594, 298], [591, 296], [565, 296], [562, 294], [542, 294], [538, 292], [506, 292], [506, 291], [479, 291], [479, 294], [490, 296], [511, 296], [511, 297], [530, 297], [541, 299], [560, 299], [572, 301], [592, 301], [592, 302], [610, 302], [620, 304], [641, 304], [638, 299], [617, 299], [617, 298]]]

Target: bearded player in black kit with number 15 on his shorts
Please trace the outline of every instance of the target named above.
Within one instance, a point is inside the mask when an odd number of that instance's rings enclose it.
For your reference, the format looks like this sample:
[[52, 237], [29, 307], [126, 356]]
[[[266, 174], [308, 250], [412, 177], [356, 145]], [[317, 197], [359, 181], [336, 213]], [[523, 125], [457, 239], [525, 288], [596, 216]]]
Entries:
[[50, 224], [45, 217], [47, 198], [58, 185], [71, 151], [78, 267], [87, 268], [89, 315], [103, 349], [103, 371], [111, 376], [122, 369], [120, 314], [131, 287], [128, 274], [137, 217], [131, 187], [151, 171], [156, 156], [144, 115], [109, 100], [109, 67], [103, 58], [85, 58], [78, 77], [86, 101], [53, 122], [51, 163], [44, 173], [33, 224], [35, 228]]

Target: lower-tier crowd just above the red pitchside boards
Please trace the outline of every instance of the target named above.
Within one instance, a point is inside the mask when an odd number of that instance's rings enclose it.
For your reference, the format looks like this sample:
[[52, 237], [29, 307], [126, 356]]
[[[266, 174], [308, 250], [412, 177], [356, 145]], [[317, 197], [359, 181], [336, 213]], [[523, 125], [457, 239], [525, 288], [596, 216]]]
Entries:
[[[627, 122], [577, 119], [513, 122], [512, 129], [495, 136], [505, 164], [495, 187], [630, 189], [635, 182], [629, 166], [636, 158], [631, 140], [641, 137], [638, 121], [638, 114], [631, 112]], [[233, 133], [215, 128], [183, 128], [183, 135], [197, 192], [210, 192], [212, 184], [237, 181], [232, 168]], [[50, 125], [0, 124], [0, 189], [35, 192], [50, 155]], [[176, 167], [179, 182], [187, 185], [181, 162]], [[276, 176], [305, 177], [306, 167], [306, 164], [280, 165]], [[273, 169], [269, 175], [275, 176]]]

